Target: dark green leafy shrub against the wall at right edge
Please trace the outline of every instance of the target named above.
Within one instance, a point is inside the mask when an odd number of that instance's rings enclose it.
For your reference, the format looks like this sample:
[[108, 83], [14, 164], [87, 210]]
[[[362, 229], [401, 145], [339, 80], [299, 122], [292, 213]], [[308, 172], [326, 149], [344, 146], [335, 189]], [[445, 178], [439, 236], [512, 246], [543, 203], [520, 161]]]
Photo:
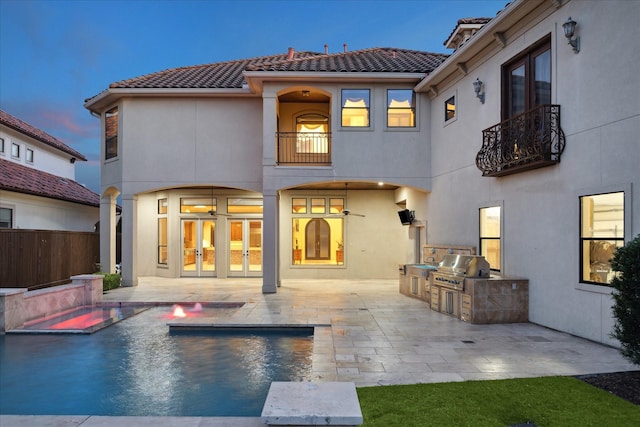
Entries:
[[617, 272], [611, 280], [615, 289], [611, 336], [622, 344], [622, 355], [640, 365], [640, 235], [616, 250], [611, 268]]

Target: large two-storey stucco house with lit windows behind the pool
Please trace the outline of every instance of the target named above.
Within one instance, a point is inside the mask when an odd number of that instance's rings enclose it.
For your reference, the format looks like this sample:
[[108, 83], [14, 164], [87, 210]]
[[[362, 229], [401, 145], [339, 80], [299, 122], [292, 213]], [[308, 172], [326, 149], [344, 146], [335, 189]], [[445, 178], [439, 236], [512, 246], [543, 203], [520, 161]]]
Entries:
[[113, 83], [85, 103], [102, 117], [101, 261], [118, 196], [129, 286], [389, 279], [425, 243], [469, 245], [529, 279], [532, 322], [614, 344], [608, 258], [640, 233], [639, 16], [514, 0], [459, 21], [451, 55], [290, 49]]

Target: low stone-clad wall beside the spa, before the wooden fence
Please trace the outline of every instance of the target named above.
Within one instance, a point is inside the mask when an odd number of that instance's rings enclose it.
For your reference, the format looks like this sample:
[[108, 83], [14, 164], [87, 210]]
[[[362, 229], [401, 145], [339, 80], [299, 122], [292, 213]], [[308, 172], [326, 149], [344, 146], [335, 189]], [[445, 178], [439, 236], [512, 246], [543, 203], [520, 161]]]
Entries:
[[101, 275], [73, 276], [71, 284], [27, 291], [0, 289], [0, 333], [25, 322], [102, 301]]

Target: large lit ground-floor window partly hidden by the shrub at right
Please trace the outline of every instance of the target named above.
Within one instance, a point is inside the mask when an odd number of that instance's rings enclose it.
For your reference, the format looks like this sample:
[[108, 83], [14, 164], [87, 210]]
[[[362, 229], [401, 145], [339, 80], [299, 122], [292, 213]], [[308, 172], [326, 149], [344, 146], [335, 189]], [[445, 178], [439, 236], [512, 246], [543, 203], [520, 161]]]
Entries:
[[624, 192], [580, 197], [580, 282], [608, 285], [610, 260], [624, 246]]

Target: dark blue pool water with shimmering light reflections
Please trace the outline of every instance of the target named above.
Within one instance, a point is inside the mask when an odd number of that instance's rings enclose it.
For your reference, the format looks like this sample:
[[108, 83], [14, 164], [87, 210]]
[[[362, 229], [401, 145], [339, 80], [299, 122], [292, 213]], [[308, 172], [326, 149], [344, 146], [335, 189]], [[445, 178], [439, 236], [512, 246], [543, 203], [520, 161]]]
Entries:
[[260, 416], [272, 381], [311, 379], [310, 329], [174, 334], [169, 310], [92, 335], [0, 335], [0, 413]]

